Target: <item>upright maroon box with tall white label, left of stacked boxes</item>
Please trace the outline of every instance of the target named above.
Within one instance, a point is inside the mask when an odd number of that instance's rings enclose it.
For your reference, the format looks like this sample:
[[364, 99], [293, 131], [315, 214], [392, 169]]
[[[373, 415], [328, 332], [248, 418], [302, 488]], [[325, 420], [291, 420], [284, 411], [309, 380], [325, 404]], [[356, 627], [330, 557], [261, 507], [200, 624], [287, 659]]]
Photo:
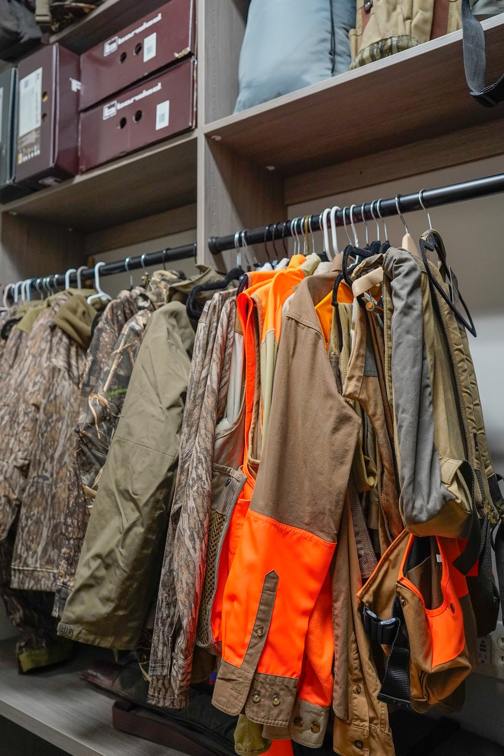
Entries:
[[51, 186], [79, 165], [79, 56], [51, 45], [18, 67], [16, 181]]

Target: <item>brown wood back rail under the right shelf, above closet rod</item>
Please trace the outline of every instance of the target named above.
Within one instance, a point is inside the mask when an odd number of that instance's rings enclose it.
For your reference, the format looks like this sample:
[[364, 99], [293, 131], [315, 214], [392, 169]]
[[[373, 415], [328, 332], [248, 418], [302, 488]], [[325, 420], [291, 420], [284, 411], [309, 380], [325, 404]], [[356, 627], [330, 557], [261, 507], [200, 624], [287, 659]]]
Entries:
[[504, 154], [504, 121], [490, 121], [471, 129], [422, 139], [373, 156], [335, 163], [285, 180], [286, 206], [374, 186], [436, 169]]

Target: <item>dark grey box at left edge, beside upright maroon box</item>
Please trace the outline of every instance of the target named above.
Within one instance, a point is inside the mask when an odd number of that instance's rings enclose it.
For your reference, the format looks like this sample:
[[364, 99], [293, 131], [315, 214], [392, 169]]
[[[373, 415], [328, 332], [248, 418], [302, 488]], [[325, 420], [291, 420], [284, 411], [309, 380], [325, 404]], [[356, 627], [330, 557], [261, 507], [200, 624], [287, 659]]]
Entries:
[[26, 187], [14, 184], [17, 137], [17, 70], [0, 73], [0, 203], [29, 194]]

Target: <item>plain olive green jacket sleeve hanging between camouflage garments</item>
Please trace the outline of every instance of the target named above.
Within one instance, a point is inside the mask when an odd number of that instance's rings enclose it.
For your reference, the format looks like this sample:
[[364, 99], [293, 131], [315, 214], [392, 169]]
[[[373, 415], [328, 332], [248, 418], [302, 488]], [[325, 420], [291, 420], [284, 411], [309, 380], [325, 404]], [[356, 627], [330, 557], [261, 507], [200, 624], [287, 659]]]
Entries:
[[[191, 335], [192, 334], [192, 335]], [[194, 333], [180, 302], [150, 318], [58, 633], [134, 649], [156, 590]]]

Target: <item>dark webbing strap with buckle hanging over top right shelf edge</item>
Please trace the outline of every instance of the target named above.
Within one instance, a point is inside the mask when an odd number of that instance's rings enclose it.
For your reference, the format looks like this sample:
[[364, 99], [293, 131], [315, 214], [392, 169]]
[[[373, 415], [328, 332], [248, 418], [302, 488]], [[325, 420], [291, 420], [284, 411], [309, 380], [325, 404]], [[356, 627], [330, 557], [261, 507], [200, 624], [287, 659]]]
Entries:
[[504, 73], [487, 86], [487, 55], [483, 26], [472, 13], [469, 0], [462, 0], [462, 48], [465, 80], [471, 96], [483, 107], [495, 107], [504, 100]]

